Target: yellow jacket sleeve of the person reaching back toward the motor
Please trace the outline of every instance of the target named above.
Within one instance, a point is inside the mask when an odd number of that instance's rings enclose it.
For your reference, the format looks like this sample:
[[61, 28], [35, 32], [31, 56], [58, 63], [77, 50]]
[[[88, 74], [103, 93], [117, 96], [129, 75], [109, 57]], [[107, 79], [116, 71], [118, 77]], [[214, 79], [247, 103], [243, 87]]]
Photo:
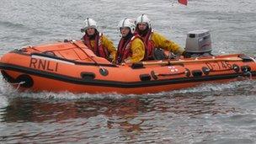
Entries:
[[155, 48], [161, 48], [163, 50], [172, 51], [174, 54], [181, 55], [184, 52], [184, 49], [181, 48], [178, 44], [172, 40], [167, 40], [163, 35], [160, 35], [157, 32], [152, 32], [151, 40]]

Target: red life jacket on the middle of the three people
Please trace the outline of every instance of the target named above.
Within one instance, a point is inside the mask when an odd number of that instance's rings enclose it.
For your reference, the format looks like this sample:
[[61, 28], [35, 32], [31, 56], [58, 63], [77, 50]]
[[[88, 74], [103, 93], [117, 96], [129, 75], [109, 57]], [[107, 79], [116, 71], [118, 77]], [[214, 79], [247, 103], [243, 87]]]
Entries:
[[117, 47], [117, 54], [115, 56], [116, 63], [119, 64], [122, 61], [124, 61], [127, 57], [132, 56], [131, 42], [136, 38], [141, 39], [139, 35], [133, 35], [129, 40], [124, 40], [124, 38], [120, 39]]

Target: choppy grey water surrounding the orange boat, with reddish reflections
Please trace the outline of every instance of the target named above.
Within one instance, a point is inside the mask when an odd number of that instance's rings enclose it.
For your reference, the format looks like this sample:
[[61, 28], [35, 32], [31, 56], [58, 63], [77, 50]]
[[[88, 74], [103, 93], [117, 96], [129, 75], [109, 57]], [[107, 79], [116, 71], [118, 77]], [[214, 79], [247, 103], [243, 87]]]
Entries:
[[[1, 0], [0, 56], [24, 45], [80, 39], [83, 19], [120, 39], [117, 24], [147, 13], [185, 45], [210, 29], [215, 54], [256, 56], [256, 1]], [[0, 143], [255, 143], [255, 81], [146, 94], [19, 93], [0, 81]]]

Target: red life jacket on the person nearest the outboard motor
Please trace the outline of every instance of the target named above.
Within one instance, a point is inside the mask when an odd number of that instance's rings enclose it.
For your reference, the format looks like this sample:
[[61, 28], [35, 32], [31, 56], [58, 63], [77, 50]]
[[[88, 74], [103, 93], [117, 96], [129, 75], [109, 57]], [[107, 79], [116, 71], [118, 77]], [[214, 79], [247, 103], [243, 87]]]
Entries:
[[154, 48], [155, 48], [155, 45], [154, 45], [154, 42], [152, 40], [152, 33], [153, 33], [153, 29], [149, 29], [148, 32], [147, 32], [147, 35], [145, 35], [144, 37], [141, 36], [142, 40], [143, 40], [143, 43], [145, 45], [145, 55], [144, 55], [144, 61], [147, 61], [147, 60], [153, 60], [153, 54], [154, 54]]

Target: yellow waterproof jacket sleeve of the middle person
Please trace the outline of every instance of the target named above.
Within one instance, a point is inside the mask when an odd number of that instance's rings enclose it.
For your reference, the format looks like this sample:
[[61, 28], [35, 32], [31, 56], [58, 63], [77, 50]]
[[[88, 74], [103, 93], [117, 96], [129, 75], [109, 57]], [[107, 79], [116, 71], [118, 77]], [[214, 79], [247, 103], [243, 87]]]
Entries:
[[139, 37], [131, 40], [131, 56], [125, 59], [125, 63], [134, 63], [143, 60], [145, 55], [145, 45]]

